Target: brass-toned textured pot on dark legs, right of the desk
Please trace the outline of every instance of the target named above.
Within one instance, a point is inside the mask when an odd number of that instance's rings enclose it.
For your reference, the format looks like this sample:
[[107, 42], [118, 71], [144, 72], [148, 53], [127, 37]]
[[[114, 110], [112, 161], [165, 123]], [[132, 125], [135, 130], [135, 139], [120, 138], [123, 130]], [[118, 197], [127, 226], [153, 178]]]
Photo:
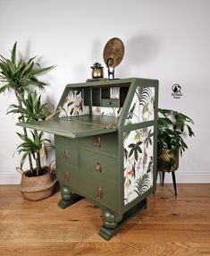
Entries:
[[[158, 150], [158, 159], [157, 159], [157, 169], [160, 172], [174, 172], [179, 167], [179, 156], [180, 150], [177, 149], [175, 153], [170, 154], [168, 149], [159, 149]], [[170, 170], [166, 169], [166, 164], [170, 161], [170, 158], [175, 160], [175, 166]]]

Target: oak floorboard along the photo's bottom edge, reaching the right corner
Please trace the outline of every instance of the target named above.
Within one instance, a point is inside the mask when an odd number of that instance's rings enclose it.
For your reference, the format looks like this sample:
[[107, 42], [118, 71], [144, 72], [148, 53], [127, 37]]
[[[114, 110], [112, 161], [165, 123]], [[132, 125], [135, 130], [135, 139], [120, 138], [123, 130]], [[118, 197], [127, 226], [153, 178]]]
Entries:
[[209, 243], [76, 243], [74, 256], [210, 255]]

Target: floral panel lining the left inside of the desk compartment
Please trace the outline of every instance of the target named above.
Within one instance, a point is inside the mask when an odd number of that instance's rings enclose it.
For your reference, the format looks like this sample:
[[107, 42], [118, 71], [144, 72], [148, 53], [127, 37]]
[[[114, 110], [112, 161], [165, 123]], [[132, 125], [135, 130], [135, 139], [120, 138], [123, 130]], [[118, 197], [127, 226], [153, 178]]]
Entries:
[[84, 106], [81, 90], [70, 90], [64, 100], [59, 117], [88, 115], [88, 107]]

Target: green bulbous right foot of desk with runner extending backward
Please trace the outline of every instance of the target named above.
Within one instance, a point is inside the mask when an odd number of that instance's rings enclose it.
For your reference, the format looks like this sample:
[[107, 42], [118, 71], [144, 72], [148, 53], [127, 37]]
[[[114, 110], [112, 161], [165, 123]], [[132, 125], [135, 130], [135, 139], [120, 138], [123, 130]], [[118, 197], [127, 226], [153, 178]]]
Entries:
[[123, 214], [122, 217], [114, 216], [109, 210], [105, 209], [103, 211], [103, 226], [99, 231], [99, 235], [101, 235], [105, 240], [109, 240], [115, 235], [119, 228], [128, 221], [133, 215], [139, 212], [140, 209], [147, 208], [147, 199], [140, 201], [133, 208], [129, 209], [127, 212]]

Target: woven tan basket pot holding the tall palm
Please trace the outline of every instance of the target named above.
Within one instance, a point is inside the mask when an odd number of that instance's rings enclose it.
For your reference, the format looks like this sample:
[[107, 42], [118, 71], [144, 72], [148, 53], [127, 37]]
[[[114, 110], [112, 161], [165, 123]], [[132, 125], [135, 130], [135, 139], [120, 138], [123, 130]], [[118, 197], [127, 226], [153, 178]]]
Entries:
[[43, 169], [44, 175], [39, 176], [31, 176], [30, 170], [21, 172], [19, 189], [24, 199], [39, 201], [46, 199], [55, 192], [55, 176], [52, 175], [48, 166], [44, 166]]

